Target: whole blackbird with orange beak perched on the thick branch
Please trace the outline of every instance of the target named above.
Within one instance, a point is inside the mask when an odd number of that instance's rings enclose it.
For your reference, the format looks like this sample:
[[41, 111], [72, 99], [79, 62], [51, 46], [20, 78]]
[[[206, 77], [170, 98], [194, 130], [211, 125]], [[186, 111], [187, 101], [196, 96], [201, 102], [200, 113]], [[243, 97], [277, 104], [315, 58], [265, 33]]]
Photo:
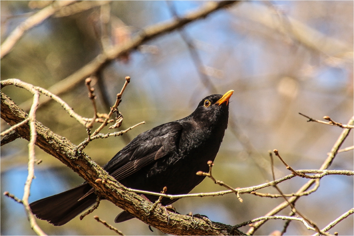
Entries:
[[[233, 92], [207, 96], [189, 116], [139, 134], [102, 168], [129, 188], [160, 192], [166, 186], [169, 194], [188, 194], [205, 178], [196, 172], [208, 172], [207, 161], [214, 161], [219, 151]], [[30, 208], [39, 219], [59, 226], [92, 206], [96, 197], [95, 190], [83, 183], [32, 202]], [[144, 197], [158, 200], [153, 195]], [[167, 206], [177, 200], [162, 198], [161, 204]], [[115, 222], [132, 218], [123, 211]]]

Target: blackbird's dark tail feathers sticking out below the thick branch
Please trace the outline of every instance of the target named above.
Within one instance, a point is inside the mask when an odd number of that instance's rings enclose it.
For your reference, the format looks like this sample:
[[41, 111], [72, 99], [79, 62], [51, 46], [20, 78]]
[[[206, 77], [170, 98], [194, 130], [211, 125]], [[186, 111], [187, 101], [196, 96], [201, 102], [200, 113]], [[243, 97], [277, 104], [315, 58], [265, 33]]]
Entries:
[[29, 206], [37, 218], [60, 226], [67, 223], [96, 202], [96, 195], [94, 193], [78, 201], [91, 188], [92, 187], [87, 183], [81, 184], [76, 188], [60, 194], [32, 202]]

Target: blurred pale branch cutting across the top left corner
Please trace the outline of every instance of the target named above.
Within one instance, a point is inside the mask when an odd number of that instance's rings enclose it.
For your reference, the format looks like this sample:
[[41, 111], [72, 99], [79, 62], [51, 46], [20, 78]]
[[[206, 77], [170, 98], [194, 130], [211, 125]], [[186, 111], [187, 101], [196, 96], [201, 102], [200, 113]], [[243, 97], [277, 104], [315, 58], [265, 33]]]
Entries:
[[12, 47], [16, 42], [22, 37], [25, 31], [35, 27], [36, 25], [42, 23], [45, 19], [57, 12], [61, 7], [67, 6], [74, 1], [55, 1], [51, 5], [43, 8], [34, 15], [28, 17], [24, 22], [18, 25], [15, 30], [5, 39], [5, 41], [0, 46], [0, 58], [4, 57], [8, 52], [11, 51]]

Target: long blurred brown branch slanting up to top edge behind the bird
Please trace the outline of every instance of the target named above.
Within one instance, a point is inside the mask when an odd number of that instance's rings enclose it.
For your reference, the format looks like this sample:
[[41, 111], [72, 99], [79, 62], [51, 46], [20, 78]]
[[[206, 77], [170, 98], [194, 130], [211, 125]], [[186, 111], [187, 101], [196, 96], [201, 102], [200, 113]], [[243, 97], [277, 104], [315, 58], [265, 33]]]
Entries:
[[[210, 13], [215, 12], [224, 7], [231, 6], [235, 2], [238, 1], [212, 1], [208, 2], [206, 5], [201, 7], [199, 10], [196, 10], [192, 13], [188, 13], [179, 19], [174, 19], [173, 21], [158, 23], [155, 25], [150, 25], [149, 27], [144, 28], [140, 34], [137, 34], [135, 38], [132, 38], [130, 41], [122, 44], [116, 45], [113, 48], [109, 49], [106, 53], [99, 54], [95, 59], [93, 59], [90, 63], [86, 64], [84, 67], [68, 76], [66, 79], [58, 82], [57, 84], [48, 88], [48, 91], [51, 91], [53, 94], [59, 95], [63, 92], [67, 92], [75, 85], [78, 85], [81, 81], [91, 76], [92, 74], [99, 71], [104, 65], [109, 63], [122, 56], [123, 54], [137, 48], [139, 45], [144, 42], [156, 38], [164, 33], [173, 31], [175, 29], [181, 28], [184, 25], [196, 21], [201, 18], [205, 18]], [[49, 102], [48, 98], [41, 98], [40, 104], [43, 105]], [[24, 102], [20, 106], [24, 108], [24, 110], [28, 110], [30, 102]]]

